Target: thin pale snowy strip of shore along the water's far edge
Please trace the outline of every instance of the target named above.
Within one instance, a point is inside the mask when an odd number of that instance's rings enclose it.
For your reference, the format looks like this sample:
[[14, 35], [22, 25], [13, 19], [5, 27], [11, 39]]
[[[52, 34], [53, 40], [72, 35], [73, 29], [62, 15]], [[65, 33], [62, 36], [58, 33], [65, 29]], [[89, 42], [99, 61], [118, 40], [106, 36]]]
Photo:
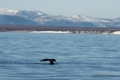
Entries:
[[95, 32], [95, 31], [29, 31], [29, 30], [15, 30], [15, 31], [2, 31], [2, 32], [20, 32], [20, 33], [55, 33], [55, 34], [104, 34], [104, 35], [120, 35], [120, 31], [114, 32]]

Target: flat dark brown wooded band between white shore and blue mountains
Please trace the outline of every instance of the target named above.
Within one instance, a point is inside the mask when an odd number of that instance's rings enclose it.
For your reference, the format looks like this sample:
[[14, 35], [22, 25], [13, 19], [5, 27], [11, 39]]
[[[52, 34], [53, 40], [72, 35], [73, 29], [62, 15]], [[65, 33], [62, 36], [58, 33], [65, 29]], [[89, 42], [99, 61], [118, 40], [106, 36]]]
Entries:
[[105, 28], [105, 27], [63, 27], [63, 26], [35, 26], [35, 25], [0, 25], [0, 31], [120, 31], [120, 28]]

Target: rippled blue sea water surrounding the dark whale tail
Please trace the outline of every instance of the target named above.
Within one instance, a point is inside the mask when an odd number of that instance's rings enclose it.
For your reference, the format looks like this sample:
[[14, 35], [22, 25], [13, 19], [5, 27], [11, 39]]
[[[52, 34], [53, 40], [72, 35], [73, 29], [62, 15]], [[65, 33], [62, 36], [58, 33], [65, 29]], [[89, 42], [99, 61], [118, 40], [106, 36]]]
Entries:
[[0, 80], [120, 80], [120, 35], [1, 32]]

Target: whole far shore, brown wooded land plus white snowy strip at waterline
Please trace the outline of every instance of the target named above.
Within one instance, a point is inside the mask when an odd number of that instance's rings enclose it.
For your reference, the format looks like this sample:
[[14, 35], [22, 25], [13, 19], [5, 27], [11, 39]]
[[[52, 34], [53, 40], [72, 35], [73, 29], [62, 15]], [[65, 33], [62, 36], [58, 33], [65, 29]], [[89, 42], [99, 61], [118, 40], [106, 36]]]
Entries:
[[33, 25], [0, 25], [0, 32], [120, 34], [120, 28], [33, 26]]

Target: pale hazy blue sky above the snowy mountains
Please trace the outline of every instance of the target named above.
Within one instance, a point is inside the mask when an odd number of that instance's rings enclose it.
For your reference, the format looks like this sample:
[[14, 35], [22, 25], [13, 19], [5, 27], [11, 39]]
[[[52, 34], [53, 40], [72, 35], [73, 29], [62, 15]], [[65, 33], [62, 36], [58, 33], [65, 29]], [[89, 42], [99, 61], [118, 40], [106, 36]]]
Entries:
[[0, 8], [37, 10], [52, 15], [120, 17], [120, 0], [0, 0]]

